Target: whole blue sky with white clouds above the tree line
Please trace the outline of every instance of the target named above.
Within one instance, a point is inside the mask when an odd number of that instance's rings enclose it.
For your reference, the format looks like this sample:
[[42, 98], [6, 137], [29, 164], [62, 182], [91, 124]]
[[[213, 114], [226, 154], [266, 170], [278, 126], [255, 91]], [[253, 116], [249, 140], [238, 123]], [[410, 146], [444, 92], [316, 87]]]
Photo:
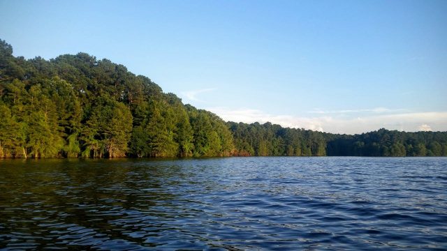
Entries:
[[0, 0], [15, 56], [87, 52], [226, 121], [447, 130], [447, 1]]

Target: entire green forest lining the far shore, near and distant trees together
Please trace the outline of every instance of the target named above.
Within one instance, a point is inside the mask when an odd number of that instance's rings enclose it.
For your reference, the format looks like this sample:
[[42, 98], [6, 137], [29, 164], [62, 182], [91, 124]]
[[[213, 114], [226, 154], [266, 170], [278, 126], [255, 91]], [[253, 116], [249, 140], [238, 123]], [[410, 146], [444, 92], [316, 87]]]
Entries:
[[337, 135], [234, 123], [86, 53], [13, 56], [0, 40], [0, 158], [446, 156], [447, 132]]

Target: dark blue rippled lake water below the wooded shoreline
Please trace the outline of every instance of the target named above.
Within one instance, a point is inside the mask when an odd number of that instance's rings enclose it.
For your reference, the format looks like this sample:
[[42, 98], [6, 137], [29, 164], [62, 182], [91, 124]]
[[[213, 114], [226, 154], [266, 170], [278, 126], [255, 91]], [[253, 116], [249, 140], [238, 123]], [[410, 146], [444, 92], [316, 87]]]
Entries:
[[447, 158], [0, 160], [0, 248], [446, 250]]

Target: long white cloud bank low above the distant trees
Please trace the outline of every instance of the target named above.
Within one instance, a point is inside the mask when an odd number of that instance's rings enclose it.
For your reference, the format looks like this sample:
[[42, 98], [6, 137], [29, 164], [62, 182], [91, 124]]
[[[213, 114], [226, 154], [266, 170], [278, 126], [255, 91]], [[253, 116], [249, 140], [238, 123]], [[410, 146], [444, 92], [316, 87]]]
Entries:
[[[343, 116], [291, 116], [272, 115], [258, 109], [228, 109], [226, 107], [207, 108], [221, 116], [225, 121], [244, 123], [271, 122], [289, 128], [305, 128], [321, 132], [341, 134], [359, 134], [386, 128], [388, 130], [415, 131], [446, 131], [447, 112], [408, 112], [388, 114], [391, 110], [383, 110], [384, 114], [372, 111], [372, 114], [362, 114], [356, 118]], [[396, 112], [396, 111], [395, 111]]]

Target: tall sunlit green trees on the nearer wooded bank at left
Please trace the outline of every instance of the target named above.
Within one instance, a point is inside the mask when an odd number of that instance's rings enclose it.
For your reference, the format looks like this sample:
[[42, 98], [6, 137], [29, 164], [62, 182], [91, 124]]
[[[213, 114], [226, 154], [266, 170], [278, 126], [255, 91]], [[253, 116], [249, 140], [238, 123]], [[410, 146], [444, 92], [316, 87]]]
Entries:
[[0, 40], [0, 157], [230, 155], [226, 123], [149, 78], [79, 53], [13, 56]]

